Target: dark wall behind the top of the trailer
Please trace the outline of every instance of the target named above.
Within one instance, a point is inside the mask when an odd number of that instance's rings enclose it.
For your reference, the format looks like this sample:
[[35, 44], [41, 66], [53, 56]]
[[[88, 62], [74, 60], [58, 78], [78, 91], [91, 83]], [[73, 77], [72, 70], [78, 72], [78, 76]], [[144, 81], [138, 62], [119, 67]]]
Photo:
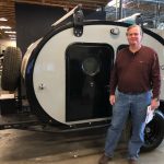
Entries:
[[[51, 30], [51, 24], [67, 12], [63, 8], [15, 3], [16, 45], [22, 52], [36, 39]], [[105, 12], [84, 10], [86, 20], [105, 20]], [[68, 19], [67, 21], [70, 21]]]

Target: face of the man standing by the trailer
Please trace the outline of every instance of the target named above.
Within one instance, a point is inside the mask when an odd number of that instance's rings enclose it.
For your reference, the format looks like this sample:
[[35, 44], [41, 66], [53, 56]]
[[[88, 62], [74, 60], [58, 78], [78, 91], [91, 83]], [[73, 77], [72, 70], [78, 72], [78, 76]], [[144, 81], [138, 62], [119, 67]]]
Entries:
[[129, 42], [129, 45], [140, 45], [141, 44], [141, 39], [142, 39], [142, 35], [140, 32], [139, 27], [132, 27], [127, 32], [127, 38]]

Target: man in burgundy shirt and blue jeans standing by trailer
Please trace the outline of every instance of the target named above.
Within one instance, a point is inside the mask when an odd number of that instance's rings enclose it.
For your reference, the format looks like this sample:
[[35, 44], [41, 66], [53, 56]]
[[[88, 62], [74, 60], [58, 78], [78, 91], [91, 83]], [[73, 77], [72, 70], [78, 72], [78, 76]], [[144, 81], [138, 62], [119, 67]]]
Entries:
[[136, 164], [144, 142], [147, 107], [159, 107], [160, 66], [156, 52], [141, 45], [142, 30], [139, 25], [127, 28], [129, 46], [121, 49], [110, 77], [109, 102], [113, 105], [112, 126], [107, 131], [105, 152], [99, 164], [107, 164], [130, 113], [132, 136], [128, 143], [128, 163]]

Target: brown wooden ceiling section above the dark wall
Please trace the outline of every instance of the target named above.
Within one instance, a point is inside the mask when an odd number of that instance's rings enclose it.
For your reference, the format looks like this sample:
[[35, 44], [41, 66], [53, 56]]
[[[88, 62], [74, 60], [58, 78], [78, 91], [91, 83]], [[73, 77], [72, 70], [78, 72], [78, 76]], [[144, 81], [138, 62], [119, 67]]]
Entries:
[[[0, 17], [7, 17], [7, 22], [0, 21], [0, 26], [11, 26], [15, 30], [15, 2], [28, 3], [28, 4], [39, 4], [39, 5], [50, 5], [50, 7], [62, 7], [69, 10], [73, 9], [78, 4], [82, 4], [83, 9], [97, 9], [99, 7], [105, 7], [110, 0], [0, 0]], [[8, 37], [0, 30], [0, 38]]]

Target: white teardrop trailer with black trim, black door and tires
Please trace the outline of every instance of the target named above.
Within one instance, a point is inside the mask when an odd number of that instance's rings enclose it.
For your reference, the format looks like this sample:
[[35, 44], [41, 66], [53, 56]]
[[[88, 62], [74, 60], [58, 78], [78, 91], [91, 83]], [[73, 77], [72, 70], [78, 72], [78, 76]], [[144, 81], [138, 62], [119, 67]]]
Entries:
[[[129, 24], [84, 21], [81, 8], [72, 12], [73, 22], [54, 24], [47, 35], [28, 47], [23, 60], [19, 48], [7, 48], [1, 85], [11, 92], [17, 89], [17, 97], [1, 99], [1, 118], [5, 119], [0, 121], [0, 129], [32, 129], [39, 125], [43, 131], [56, 132], [56, 127], [59, 131], [71, 131], [109, 126], [110, 70], [117, 51], [128, 45]], [[159, 54], [161, 91], [164, 91], [164, 39], [147, 28], [143, 33], [143, 45]], [[21, 94], [23, 86], [25, 97]], [[24, 101], [28, 106], [23, 105]], [[14, 114], [5, 112], [11, 106], [15, 106]], [[144, 133], [144, 151], [155, 149], [163, 141], [163, 92], [160, 107]]]

